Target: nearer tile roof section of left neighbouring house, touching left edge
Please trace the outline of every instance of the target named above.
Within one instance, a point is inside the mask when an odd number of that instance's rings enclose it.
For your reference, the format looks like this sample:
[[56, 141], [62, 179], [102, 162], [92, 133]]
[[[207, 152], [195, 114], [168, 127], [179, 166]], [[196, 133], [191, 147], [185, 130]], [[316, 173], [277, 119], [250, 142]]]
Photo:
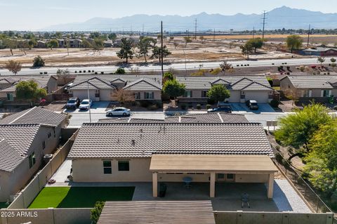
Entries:
[[41, 124], [0, 124], [0, 170], [12, 171], [27, 156]]

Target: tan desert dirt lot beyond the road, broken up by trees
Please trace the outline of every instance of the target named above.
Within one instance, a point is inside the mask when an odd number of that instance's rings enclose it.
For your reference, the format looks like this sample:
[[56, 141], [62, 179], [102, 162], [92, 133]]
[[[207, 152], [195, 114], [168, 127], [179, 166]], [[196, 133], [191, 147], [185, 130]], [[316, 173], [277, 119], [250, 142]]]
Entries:
[[[266, 35], [267, 44], [263, 49], [259, 49], [256, 54], [250, 56], [251, 59], [272, 59], [272, 58], [296, 58], [299, 55], [292, 55], [277, 51], [277, 48], [282, 48], [286, 34], [281, 35]], [[246, 39], [251, 38], [251, 35], [222, 35], [216, 36], [213, 41], [212, 36], [204, 36], [204, 41], [199, 37], [197, 40], [192, 40], [192, 43], [185, 44], [183, 37], [174, 37], [173, 41], [167, 39], [164, 44], [168, 46], [171, 55], [165, 58], [165, 62], [204, 62], [218, 60], [242, 60], [244, 55], [239, 48]], [[305, 36], [303, 35], [303, 38]], [[312, 44], [335, 44], [337, 43], [337, 35], [312, 35], [310, 38]], [[176, 43], [176, 46], [175, 44]], [[178, 44], [178, 46], [177, 46]], [[117, 57], [116, 52], [119, 48], [105, 48], [102, 51], [93, 51], [84, 48], [54, 48], [38, 49], [22, 51], [21, 49], [13, 49], [13, 54], [9, 49], [0, 50], [0, 66], [4, 66], [8, 60], [18, 60], [22, 62], [24, 67], [32, 66], [32, 60], [35, 56], [41, 55], [46, 60], [46, 66], [79, 66], [79, 65], [113, 65], [123, 62]], [[135, 49], [137, 55], [137, 49]], [[157, 62], [157, 59], [148, 58], [148, 62]], [[130, 62], [142, 63], [143, 57], [134, 57]]]

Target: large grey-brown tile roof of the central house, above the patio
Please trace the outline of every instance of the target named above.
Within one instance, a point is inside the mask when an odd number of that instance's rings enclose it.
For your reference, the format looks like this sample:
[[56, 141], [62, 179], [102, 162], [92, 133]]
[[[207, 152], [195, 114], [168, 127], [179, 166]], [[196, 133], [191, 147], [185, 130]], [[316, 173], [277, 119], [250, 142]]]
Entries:
[[69, 157], [272, 154], [261, 124], [84, 124]]

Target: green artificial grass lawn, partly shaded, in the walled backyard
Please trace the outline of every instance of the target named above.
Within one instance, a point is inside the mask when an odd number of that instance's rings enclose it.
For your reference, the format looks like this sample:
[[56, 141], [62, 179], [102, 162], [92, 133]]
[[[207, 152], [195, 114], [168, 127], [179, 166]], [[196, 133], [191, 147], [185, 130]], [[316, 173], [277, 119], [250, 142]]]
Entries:
[[44, 187], [28, 209], [93, 208], [95, 202], [131, 201], [135, 187]]

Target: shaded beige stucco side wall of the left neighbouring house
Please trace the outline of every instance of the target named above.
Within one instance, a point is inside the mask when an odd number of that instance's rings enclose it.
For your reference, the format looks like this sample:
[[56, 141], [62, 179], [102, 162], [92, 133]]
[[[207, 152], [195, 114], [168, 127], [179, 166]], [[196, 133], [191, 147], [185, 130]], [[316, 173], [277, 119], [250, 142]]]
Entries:
[[[59, 126], [55, 129], [54, 137], [53, 128], [41, 127], [27, 152], [27, 157], [25, 157], [25, 159], [14, 169], [13, 172], [2, 171], [0, 173], [0, 202], [6, 202], [7, 199], [10, 199], [10, 195], [15, 195], [18, 191], [25, 187], [27, 182], [39, 170], [44, 154], [53, 152], [58, 146], [60, 131], [61, 128]], [[48, 138], [48, 133], [51, 133], [50, 138]], [[42, 149], [43, 141], [46, 143], [46, 148], [44, 150]], [[32, 152], [35, 152], [36, 163], [29, 169], [28, 157]], [[7, 177], [4, 173], [7, 173]]]

